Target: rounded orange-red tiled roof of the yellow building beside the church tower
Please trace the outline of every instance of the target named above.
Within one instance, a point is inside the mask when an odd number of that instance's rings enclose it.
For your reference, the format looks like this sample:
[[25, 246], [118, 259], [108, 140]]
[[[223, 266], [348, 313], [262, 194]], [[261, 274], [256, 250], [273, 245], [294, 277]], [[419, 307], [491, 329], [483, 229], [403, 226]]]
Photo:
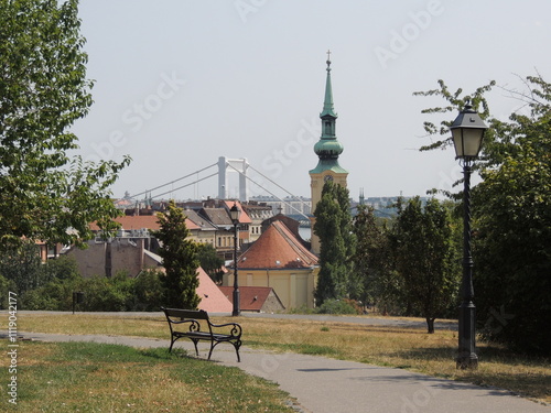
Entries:
[[317, 257], [283, 222], [276, 221], [237, 262], [239, 269], [311, 268], [317, 265]]

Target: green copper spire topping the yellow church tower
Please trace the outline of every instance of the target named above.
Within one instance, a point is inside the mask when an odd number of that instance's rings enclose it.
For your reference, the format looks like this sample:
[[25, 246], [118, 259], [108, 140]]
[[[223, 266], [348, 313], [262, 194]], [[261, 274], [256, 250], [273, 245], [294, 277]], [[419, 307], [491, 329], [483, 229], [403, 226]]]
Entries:
[[322, 137], [314, 145], [314, 152], [320, 157], [317, 166], [310, 173], [322, 173], [333, 171], [335, 173], [347, 173], [338, 164], [338, 155], [343, 153], [344, 146], [337, 141], [335, 126], [337, 115], [333, 107], [333, 89], [331, 85], [331, 52], [327, 51], [327, 79], [325, 80], [325, 99], [323, 110], [320, 113], [322, 119]]

